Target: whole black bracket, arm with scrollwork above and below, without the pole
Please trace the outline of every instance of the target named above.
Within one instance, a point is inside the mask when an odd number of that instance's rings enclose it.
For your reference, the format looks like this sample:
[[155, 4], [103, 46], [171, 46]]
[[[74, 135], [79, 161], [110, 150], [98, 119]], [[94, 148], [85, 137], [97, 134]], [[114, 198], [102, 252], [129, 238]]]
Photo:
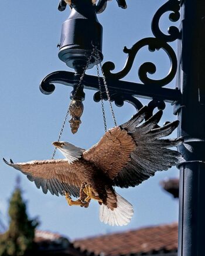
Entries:
[[[114, 101], [118, 107], [122, 107], [124, 101], [127, 101], [134, 105], [138, 111], [142, 107], [142, 103], [135, 97], [151, 99], [149, 105], [151, 106], [152, 111], [156, 107], [163, 109], [165, 107], [165, 101], [172, 103], [175, 101], [180, 102], [181, 92], [179, 90], [164, 88], [165, 85], [172, 81], [177, 71], [176, 54], [168, 42], [173, 42], [176, 39], [179, 39], [180, 32], [176, 26], [170, 26], [168, 28], [168, 34], [166, 35], [159, 27], [160, 18], [166, 12], [171, 12], [169, 14], [170, 21], [176, 22], [179, 20], [180, 2], [181, 1], [179, 0], [169, 0], [158, 9], [152, 20], [152, 32], [155, 37], [143, 38], [136, 42], [132, 48], [124, 48], [124, 52], [125, 54], [128, 54], [128, 57], [124, 68], [121, 71], [117, 73], [111, 72], [115, 69], [115, 64], [113, 62], [105, 62], [102, 66], [110, 91], [111, 100]], [[138, 77], [142, 83], [121, 81], [121, 79], [131, 71], [139, 50], [145, 46], [148, 46], [148, 49], [151, 52], [163, 49], [166, 55], [169, 56], [170, 69], [166, 77], [162, 79], [152, 79], [150, 75], [156, 72], [156, 65], [152, 62], [145, 62], [138, 69]], [[150, 74], [149, 77], [148, 74]], [[53, 84], [55, 83], [74, 87], [77, 77], [78, 76], [73, 72], [53, 72], [42, 80], [40, 91], [44, 94], [51, 94], [54, 91], [55, 87]], [[99, 90], [97, 77], [91, 75], [85, 75], [82, 85], [87, 89]], [[106, 100], [106, 94], [102, 93], [102, 95]], [[94, 101], [98, 102], [99, 100], [100, 92], [98, 91], [94, 94]]]

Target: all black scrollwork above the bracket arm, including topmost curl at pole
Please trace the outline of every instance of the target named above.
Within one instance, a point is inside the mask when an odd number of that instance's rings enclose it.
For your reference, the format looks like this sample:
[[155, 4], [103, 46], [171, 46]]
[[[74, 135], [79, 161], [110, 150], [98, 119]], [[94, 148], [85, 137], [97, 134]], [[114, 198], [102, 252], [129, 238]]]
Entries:
[[139, 67], [139, 79], [145, 85], [158, 84], [158, 87], [163, 87], [169, 84], [169, 82], [171, 82], [176, 75], [177, 58], [175, 51], [173, 51], [172, 47], [168, 45], [167, 42], [175, 41], [177, 38], [179, 38], [180, 33], [178, 28], [176, 28], [175, 26], [170, 26], [168, 31], [169, 35], [163, 34], [163, 32], [160, 31], [159, 28], [159, 19], [163, 14], [165, 14], [165, 12], [172, 11], [172, 13], [169, 15], [169, 19], [170, 21], [176, 22], [180, 18], [179, 9], [179, 0], [169, 0], [168, 2], [166, 2], [166, 4], [162, 5], [154, 15], [152, 21], [152, 32], [156, 36], [156, 38], [143, 38], [140, 41], [136, 42], [136, 44], [134, 44], [130, 49], [125, 46], [123, 51], [128, 54], [128, 58], [122, 71], [119, 71], [115, 74], [111, 73], [111, 71], [115, 69], [114, 63], [105, 62], [105, 64], [103, 65], [104, 74], [115, 80], [124, 78], [131, 70], [132, 64], [134, 63], [136, 54], [138, 53], [139, 49], [141, 49], [143, 46], [148, 46], [149, 51], [151, 52], [159, 49], [163, 49], [166, 52], [170, 59], [170, 71], [165, 78], [159, 80], [148, 78], [148, 73], [154, 74], [156, 72], [156, 66], [152, 62], [145, 62], [141, 65], [141, 67]]

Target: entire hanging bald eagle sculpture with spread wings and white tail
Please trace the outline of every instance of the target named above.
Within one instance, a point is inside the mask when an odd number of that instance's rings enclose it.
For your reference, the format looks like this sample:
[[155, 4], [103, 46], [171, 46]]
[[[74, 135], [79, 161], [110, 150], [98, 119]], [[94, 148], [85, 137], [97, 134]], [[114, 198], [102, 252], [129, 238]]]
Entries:
[[[133, 215], [132, 205], [114, 187], [135, 187], [156, 171], [176, 165], [181, 157], [169, 148], [181, 144], [182, 138], [161, 139], [171, 134], [179, 121], [158, 127], [162, 111], [144, 121], [148, 111], [146, 106], [141, 108], [128, 122], [107, 131], [88, 150], [69, 142], [53, 142], [66, 159], [16, 164], [4, 161], [27, 175], [37, 188], [42, 187], [45, 194], [49, 190], [53, 195], [66, 195], [69, 205], [81, 207], [88, 207], [91, 199], [97, 200], [102, 222], [127, 225]], [[78, 200], [71, 200], [71, 195]]]

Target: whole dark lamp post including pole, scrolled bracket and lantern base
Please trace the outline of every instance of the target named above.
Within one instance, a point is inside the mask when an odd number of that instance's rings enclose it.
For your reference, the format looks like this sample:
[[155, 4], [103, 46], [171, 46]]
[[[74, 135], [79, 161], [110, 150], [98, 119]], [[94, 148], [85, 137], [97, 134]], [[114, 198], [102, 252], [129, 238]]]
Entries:
[[[40, 91], [44, 94], [51, 94], [54, 91], [53, 84], [64, 84], [74, 88], [70, 95], [71, 99], [77, 98], [83, 101], [85, 98], [83, 89], [87, 88], [97, 91], [94, 94], [94, 101], [100, 101], [98, 77], [84, 75], [78, 91], [76, 91], [76, 85], [93, 45], [97, 48], [100, 58], [96, 59], [95, 56], [90, 58], [87, 67], [91, 68], [95, 63], [102, 61], [102, 27], [97, 21], [96, 13], [104, 9], [102, 7], [105, 7], [106, 2], [107, 0], [100, 0], [96, 6], [91, 0], [71, 1], [71, 15], [62, 28], [59, 58], [69, 67], [74, 68], [75, 72], [56, 71], [47, 75], [40, 84]], [[63, 11], [65, 6], [61, 0], [60, 11]], [[173, 22], [178, 21], [181, 14], [180, 29], [170, 26], [169, 35], [164, 34], [159, 28], [159, 19], [165, 12], [171, 12], [169, 19]], [[111, 101], [114, 101], [118, 107], [127, 101], [136, 109], [140, 109], [142, 104], [138, 98], [151, 99], [148, 105], [152, 110], [156, 107], [164, 109], [165, 102], [175, 104], [175, 114], [180, 120], [178, 134], [184, 137], [184, 144], [179, 147], [184, 161], [179, 164], [178, 255], [202, 256], [205, 230], [204, 0], [168, 0], [153, 16], [152, 32], [153, 37], [141, 39], [130, 49], [124, 48], [128, 58], [122, 71], [111, 72], [115, 68], [112, 62], [105, 62], [102, 69], [107, 79]], [[175, 40], [179, 42], [177, 58], [175, 51], [168, 44]], [[151, 79], [147, 74], [155, 73], [156, 67], [152, 62], [145, 62], [138, 71], [141, 83], [121, 81], [131, 70], [134, 59], [143, 46], [148, 46], [151, 52], [157, 49], [163, 49], [166, 52], [170, 59], [169, 73], [165, 78]], [[166, 88], [165, 86], [175, 78], [176, 74], [176, 88]], [[103, 91], [102, 97], [107, 99]]]

